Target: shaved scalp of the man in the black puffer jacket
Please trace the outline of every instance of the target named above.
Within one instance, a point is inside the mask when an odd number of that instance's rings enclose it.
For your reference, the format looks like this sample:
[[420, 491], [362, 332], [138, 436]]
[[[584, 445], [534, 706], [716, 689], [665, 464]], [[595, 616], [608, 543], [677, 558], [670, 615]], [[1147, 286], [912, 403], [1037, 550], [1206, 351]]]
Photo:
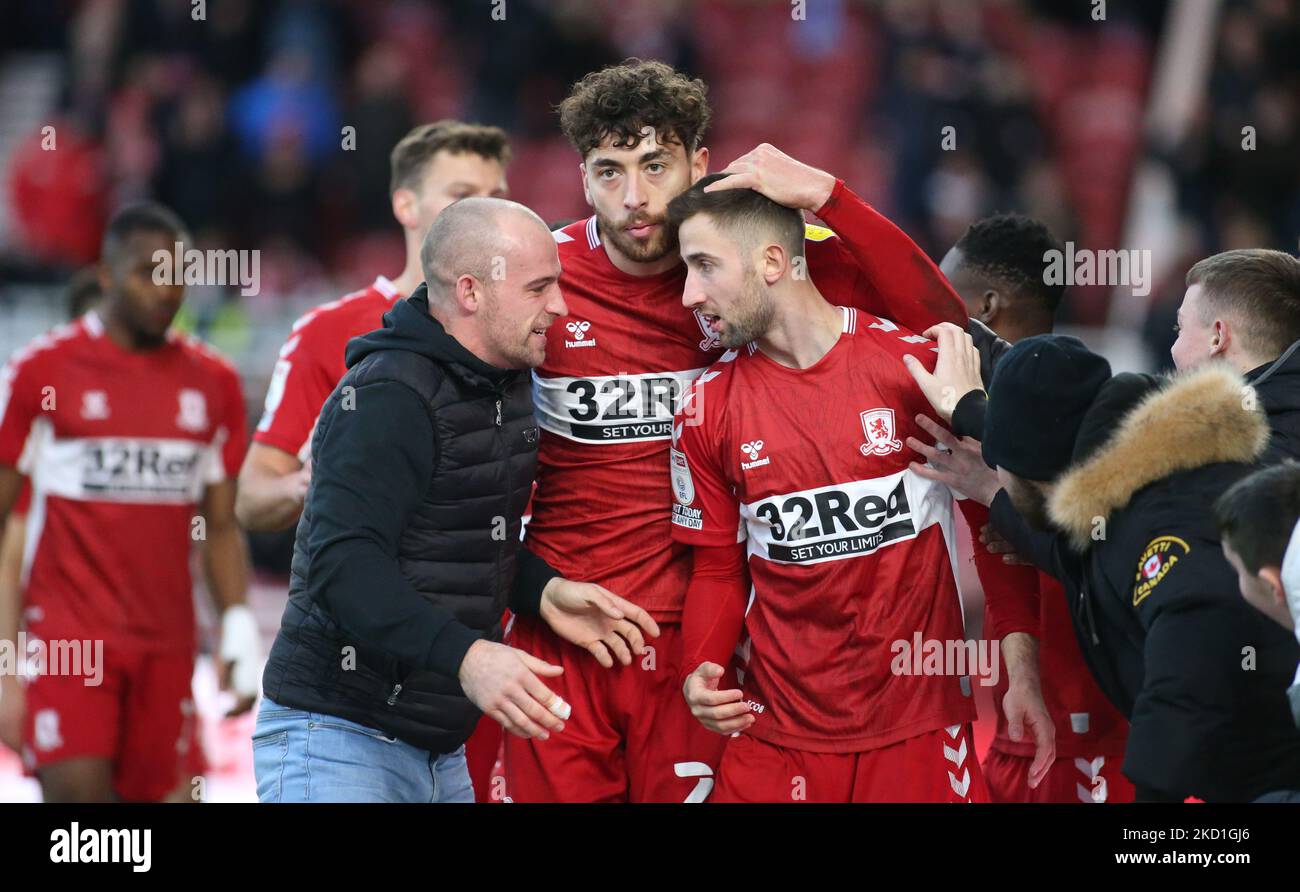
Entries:
[[464, 198], [447, 205], [433, 221], [420, 248], [429, 299], [451, 298], [462, 276], [490, 283], [494, 267], [503, 264], [530, 228], [551, 238], [542, 218], [517, 202]]

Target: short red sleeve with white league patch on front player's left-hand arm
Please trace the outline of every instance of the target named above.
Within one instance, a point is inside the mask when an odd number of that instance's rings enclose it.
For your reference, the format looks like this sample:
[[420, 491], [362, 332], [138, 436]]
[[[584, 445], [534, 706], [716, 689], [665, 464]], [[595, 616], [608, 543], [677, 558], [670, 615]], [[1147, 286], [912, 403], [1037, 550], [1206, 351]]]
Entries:
[[672, 449], [668, 451], [672, 475], [672, 538], [686, 545], [734, 545], [744, 541], [740, 502], [718, 462], [716, 434], [705, 412], [705, 372], [682, 397], [672, 421]]

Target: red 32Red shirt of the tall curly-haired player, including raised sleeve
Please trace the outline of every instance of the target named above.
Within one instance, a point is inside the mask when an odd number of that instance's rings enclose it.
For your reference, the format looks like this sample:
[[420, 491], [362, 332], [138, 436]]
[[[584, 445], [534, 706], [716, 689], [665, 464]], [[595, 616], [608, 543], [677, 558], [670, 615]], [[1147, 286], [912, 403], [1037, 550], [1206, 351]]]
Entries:
[[[961, 300], [923, 252], [841, 182], [807, 228], [809, 274], [823, 293], [920, 328], [965, 321]], [[849, 237], [853, 242], [849, 242]], [[555, 233], [569, 316], [547, 333], [533, 372], [542, 428], [528, 546], [564, 576], [598, 583], [676, 622], [689, 551], [670, 536], [663, 468], [685, 387], [723, 348], [681, 306], [686, 268], [630, 276], [595, 217]]]

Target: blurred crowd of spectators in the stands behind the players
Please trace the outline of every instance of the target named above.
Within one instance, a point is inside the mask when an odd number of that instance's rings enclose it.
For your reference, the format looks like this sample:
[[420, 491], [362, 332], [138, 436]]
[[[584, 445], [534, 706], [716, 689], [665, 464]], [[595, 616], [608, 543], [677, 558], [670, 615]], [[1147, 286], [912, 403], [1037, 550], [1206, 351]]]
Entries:
[[[58, 159], [12, 155], [12, 247], [83, 263], [105, 207], [152, 196], [205, 241], [274, 254], [291, 287], [290, 270], [351, 287], [360, 257], [400, 248], [381, 186], [386, 147], [417, 120], [504, 126], [520, 169], [543, 172], [515, 196], [582, 213], [576, 185], [550, 176], [568, 157], [554, 104], [629, 55], [706, 79], [715, 169], [784, 143], [845, 170], [936, 256], [997, 211], [1114, 247], [1169, 8], [1112, 4], [1098, 25], [1054, 0], [818, 0], [800, 18], [734, 0], [511, 0], [504, 18], [482, 0], [222, 0], [198, 22], [187, 0], [87, 0], [61, 35], [57, 13], [6, 10], [31, 48], [62, 42], [60, 103], [82, 124]], [[1294, 3], [1225, 0], [1202, 108], [1179, 146], [1157, 147], [1199, 221], [1190, 257], [1295, 250], [1297, 44]], [[1108, 296], [1079, 289], [1063, 321], [1098, 321]]]

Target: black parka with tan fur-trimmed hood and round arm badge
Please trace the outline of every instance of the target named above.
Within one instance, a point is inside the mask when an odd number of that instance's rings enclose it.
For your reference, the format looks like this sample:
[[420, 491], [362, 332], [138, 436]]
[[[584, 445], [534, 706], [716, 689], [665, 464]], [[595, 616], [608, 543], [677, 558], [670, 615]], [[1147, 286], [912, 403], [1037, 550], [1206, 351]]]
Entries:
[[1300, 649], [1240, 597], [1212, 511], [1269, 438], [1222, 365], [1164, 384], [1121, 374], [1053, 482], [1065, 532], [1031, 531], [1005, 492], [991, 506], [998, 532], [1065, 586], [1084, 659], [1130, 719], [1124, 774], [1143, 798], [1300, 789], [1284, 694]]

